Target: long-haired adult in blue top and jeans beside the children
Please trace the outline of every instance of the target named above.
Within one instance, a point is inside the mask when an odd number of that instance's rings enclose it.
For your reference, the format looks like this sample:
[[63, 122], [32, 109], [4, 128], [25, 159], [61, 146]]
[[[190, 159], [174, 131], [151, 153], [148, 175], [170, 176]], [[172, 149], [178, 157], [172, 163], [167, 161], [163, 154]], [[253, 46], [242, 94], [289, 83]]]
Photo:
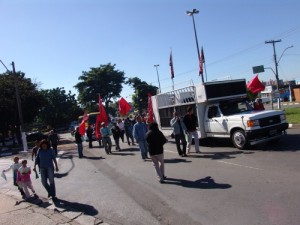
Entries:
[[40, 166], [41, 181], [48, 193], [48, 198], [52, 197], [53, 201], [57, 200], [54, 181], [54, 166], [55, 171], [58, 171], [58, 165], [55, 153], [51, 149], [50, 143], [45, 139], [40, 142], [40, 149], [34, 162], [34, 171], [36, 171], [36, 165]]

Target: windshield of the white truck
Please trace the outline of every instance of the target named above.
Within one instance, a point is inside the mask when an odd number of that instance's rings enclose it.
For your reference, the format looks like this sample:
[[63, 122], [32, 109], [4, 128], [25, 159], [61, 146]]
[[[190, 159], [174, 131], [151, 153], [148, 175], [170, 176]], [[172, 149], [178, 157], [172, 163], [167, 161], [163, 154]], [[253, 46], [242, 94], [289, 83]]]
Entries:
[[253, 107], [247, 99], [234, 99], [220, 102], [220, 110], [224, 116], [250, 112]]

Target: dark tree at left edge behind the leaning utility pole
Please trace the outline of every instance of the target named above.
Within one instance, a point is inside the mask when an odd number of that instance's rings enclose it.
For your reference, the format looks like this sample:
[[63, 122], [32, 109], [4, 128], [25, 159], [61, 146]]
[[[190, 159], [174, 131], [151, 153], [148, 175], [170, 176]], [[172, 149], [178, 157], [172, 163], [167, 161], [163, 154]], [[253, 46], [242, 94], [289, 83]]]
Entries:
[[[16, 82], [16, 83], [15, 83]], [[0, 75], [0, 126], [2, 130], [8, 129], [8, 125], [19, 125], [19, 114], [16, 100], [16, 86], [21, 100], [23, 122], [31, 122], [43, 105], [43, 96], [38, 91], [37, 84], [25, 74], [17, 72]]]

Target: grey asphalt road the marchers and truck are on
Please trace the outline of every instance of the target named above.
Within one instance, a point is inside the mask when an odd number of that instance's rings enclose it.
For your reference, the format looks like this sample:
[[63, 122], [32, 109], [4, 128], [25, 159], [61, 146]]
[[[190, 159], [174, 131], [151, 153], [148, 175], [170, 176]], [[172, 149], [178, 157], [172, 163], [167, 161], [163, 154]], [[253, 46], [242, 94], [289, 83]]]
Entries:
[[[63, 138], [68, 143], [71, 136]], [[201, 143], [201, 154], [187, 158], [170, 141], [165, 184], [157, 181], [152, 163], [141, 160], [137, 146], [121, 143], [123, 150], [112, 155], [85, 146], [79, 159], [70, 144], [60, 151], [57, 195], [111, 224], [297, 225], [299, 138], [300, 129], [289, 129], [278, 143], [245, 151], [210, 139]], [[46, 196], [40, 179], [33, 183]]]

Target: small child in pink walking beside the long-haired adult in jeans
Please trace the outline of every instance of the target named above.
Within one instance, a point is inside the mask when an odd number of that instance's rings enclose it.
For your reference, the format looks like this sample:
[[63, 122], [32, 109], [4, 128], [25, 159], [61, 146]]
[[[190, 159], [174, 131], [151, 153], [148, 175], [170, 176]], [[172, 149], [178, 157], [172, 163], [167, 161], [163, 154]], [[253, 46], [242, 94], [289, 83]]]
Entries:
[[30, 167], [27, 166], [27, 160], [24, 159], [24, 160], [22, 160], [22, 166], [18, 169], [17, 182], [18, 182], [18, 185], [23, 188], [26, 199], [28, 199], [30, 197], [28, 188], [36, 196], [35, 190], [31, 183], [30, 174], [31, 174], [31, 169], [30, 169]]

